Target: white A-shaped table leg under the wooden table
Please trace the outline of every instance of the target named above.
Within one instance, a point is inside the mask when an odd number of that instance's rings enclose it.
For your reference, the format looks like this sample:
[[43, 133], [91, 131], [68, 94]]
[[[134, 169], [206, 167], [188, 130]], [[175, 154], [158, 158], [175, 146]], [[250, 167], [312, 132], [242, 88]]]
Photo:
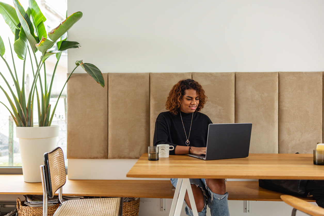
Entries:
[[184, 179], [179, 178], [178, 179], [178, 183], [177, 183], [176, 191], [173, 196], [173, 201], [172, 201], [169, 216], [172, 216], [172, 215], [179, 216], [180, 215], [182, 205], [183, 205], [183, 200], [186, 195], [186, 191], [188, 191], [189, 200], [190, 200], [191, 208], [192, 208], [192, 213], [194, 216], [198, 216], [197, 207], [195, 204], [195, 200], [193, 198], [193, 193], [192, 193], [189, 178], [184, 178]]

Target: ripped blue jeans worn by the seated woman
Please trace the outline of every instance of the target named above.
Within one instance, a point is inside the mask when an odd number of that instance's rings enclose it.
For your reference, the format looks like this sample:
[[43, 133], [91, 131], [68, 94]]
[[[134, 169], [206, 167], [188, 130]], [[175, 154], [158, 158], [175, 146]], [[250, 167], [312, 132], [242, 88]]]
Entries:
[[[203, 195], [205, 198], [205, 205], [201, 212], [198, 212], [199, 216], [205, 216], [207, 211], [207, 205], [210, 208], [211, 216], [229, 216], [228, 211], [228, 203], [226, 194], [216, 194], [213, 193], [207, 186], [206, 180], [204, 178], [190, 178], [189, 179], [191, 185], [195, 185], [199, 187], [203, 191]], [[178, 178], [171, 178], [171, 183], [174, 187], [177, 187]], [[206, 193], [208, 191], [208, 193]], [[183, 200], [186, 204], [186, 214], [193, 216], [192, 210], [187, 205], [186, 201]]]

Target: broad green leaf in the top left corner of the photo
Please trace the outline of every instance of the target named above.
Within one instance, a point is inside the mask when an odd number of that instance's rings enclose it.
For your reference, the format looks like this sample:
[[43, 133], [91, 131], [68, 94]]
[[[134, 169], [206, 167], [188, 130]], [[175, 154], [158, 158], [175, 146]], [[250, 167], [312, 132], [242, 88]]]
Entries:
[[17, 17], [15, 8], [11, 5], [0, 2], [0, 14], [5, 19], [12, 33], [15, 34], [16, 29], [19, 29], [19, 19]]

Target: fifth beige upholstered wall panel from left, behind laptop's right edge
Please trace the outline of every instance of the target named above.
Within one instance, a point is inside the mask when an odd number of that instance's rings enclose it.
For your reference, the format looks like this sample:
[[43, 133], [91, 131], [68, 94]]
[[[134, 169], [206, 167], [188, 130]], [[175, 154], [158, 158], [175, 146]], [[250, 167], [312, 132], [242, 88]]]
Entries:
[[252, 123], [250, 153], [278, 153], [278, 73], [235, 73], [235, 123]]

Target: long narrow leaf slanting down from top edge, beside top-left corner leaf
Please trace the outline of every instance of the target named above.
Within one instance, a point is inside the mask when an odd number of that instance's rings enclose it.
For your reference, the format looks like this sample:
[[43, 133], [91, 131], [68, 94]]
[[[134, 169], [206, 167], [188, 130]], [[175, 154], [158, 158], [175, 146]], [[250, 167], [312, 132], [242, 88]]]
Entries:
[[28, 14], [25, 12], [24, 8], [20, 5], [19, 1], [18, 0], [13, 0], [13, 1], [15, 4], [17, 16], [21, 23], [21, 27], [25, 31], [25, 34], [27, 36], [32, 51], [35, 51], [36, 50], [35, 44], [37, 43], [36, 41], [37, 37], [34, 34], [33, 25], [28, 17]]

